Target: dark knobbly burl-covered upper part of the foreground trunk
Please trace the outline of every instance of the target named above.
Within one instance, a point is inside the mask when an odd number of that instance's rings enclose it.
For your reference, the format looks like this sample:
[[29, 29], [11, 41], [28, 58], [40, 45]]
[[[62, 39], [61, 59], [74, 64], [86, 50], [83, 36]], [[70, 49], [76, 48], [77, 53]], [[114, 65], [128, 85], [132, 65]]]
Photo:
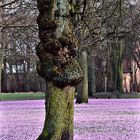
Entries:
[[75, 86], [82, 78], [82, 70], [75, 60], [79, 47], [69, 19], [69, 2], [38, 0], [37, 19], [41, 42], [36, 51], [40, 59], [38, 73], [56, 86]]

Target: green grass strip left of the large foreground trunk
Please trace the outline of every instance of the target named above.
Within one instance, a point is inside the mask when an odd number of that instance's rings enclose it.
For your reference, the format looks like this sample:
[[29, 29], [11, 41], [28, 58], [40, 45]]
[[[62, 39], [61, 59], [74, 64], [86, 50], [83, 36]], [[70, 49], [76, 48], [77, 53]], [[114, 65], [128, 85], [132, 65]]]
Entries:
[[1, 93], [1, 101], [10, 101], [10, 100], [39, 100], [44, 99], [45, 94], [42, 92], [37, 93]]

